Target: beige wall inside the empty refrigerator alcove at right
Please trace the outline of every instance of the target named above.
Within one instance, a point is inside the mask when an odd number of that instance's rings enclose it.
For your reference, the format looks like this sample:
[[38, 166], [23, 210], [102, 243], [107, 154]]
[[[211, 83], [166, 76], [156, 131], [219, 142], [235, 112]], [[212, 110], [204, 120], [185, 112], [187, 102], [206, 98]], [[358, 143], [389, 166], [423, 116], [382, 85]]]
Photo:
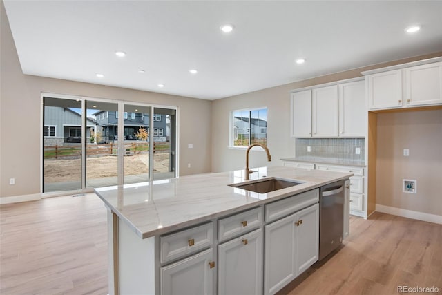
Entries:
[[[377, 119], [376, 203], [442, 216], [442, 110]], [[417, 181], [416, 194], [403, 193], [403, 179]]]

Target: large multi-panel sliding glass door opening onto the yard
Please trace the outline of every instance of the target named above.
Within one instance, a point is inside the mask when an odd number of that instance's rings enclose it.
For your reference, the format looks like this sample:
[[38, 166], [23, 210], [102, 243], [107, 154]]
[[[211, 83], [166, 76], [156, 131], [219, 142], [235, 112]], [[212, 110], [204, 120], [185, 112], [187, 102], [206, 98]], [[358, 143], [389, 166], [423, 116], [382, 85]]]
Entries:
[[43, 192], [174, 178], [176, 109], [44, 97]]

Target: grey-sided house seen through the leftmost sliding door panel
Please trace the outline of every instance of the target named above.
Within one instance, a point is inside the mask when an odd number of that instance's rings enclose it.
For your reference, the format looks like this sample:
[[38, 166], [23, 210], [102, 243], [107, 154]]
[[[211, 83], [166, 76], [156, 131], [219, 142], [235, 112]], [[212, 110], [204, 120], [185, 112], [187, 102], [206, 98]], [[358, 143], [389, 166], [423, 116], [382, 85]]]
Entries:
[[[97, 124], [93, 120], [86, 121], [88, 140], [90, 140], [90, 131], [95, 131], [96, 128]], [[81, 142], [81, 115], [69, 108], [45, 106], [43, 135], [45, 146], [63, 146]]]

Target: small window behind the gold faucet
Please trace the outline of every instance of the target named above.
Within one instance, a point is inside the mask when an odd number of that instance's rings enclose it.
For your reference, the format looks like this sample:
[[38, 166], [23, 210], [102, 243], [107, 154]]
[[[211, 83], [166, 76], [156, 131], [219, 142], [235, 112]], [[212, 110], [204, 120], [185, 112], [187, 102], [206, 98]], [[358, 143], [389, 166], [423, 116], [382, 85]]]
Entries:
[[231, 113], [231, 146], [267, 145], [267, 108]]

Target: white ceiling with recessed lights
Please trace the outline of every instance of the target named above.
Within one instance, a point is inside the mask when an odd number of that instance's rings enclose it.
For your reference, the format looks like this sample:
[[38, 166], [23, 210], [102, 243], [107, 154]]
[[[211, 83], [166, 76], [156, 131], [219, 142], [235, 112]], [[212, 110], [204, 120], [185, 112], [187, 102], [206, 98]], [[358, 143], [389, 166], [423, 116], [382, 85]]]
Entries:
[[4, 4], [24, 74], [200, 99], [442, 51], [442, 1]]

